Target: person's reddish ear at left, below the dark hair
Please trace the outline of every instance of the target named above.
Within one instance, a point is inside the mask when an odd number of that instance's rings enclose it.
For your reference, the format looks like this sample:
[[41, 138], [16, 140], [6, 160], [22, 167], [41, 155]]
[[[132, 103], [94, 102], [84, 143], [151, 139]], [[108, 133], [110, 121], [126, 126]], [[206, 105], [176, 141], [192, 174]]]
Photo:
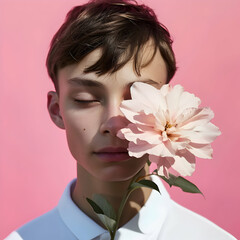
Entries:
[[56, 92], [48, 92], [47, 108], [52, 121], [61, 129], [65, 129], [62, 116], [60, 114], [59, 97]]

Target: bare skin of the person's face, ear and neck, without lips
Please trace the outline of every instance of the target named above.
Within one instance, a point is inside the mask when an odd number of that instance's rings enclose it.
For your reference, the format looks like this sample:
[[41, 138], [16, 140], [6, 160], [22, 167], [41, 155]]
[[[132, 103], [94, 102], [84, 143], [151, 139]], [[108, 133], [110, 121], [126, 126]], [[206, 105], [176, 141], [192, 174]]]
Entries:
[[[142, 50], [142, 59], [148, 62], [152, 51], [153, 47], [148, 43]], [[160, 52], [157, 52], [147, 66], [144, 66], [143, 61], [141, 76], [135, 73], [132, 61], [113, 74], [85, 74], [84, 69], [100, 56], [101, 50], [97, 49], [80, 63], [59, 70], [59, 94], [48, 93], [48, 110], [53, 122], [65, 129], [69, 149], [77, 161], [73, 201], [101, 225], [86, 197], [102, 194], [117, 210], [132, 178], [137, 173], [140, 176], [146, 175], [148, 167], [147, 156], [105, 162], [97, 153], [104, 147], [127, 149], [128, 142], [116, 136], [119, 129], [128, 124], [119, 109], [121, 102], [130, 99], [129, 89], [135, 81], [147, 82], [160, 88], [166, 83], [167, 70]], [[150, 192], [151, 190], [142, 188], [131, 195], [120, 226], [140, 210]]]

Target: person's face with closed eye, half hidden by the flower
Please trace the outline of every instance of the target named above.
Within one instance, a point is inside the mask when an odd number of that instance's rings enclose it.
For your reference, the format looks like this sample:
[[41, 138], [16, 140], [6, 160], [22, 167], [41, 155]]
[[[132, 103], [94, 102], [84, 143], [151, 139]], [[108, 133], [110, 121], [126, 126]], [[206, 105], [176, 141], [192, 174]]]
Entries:
[[[143, 59], [148, 61], [151, 51], [151, 46], [146, 47]], [[145, 166], [147, 157], [129, 157], [128, 142], [116, 136], [128, 124], [119, 106], [130, 99], [129, 89], [134, 82], [160, 88], [166, 83], [167, 70], [157, 52], [141, 69], [141, 76], [135, 73], [132, 61], [113, 74], [84, 73], [100, 54], [97, 49], [80, 63], [59, 70], [59, 95], [48, 94], [48, 109], [55, 124], [66, 130], [69, 149], [85, 171], [99, 180], [124, 181]]]

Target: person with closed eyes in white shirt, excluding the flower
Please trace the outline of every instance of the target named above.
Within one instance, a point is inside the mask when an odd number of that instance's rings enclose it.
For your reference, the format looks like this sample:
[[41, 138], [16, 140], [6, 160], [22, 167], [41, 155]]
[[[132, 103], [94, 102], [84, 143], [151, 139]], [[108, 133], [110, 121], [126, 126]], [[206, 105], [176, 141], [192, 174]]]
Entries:
[[[176, 71], [172, 40], [152, 9], [131, 0], [93, 0], [74, 7], [52, 39], [47, 69], [56, 91], [48, 111], [66, 132], [77, 179], [59, 204], [12, 232], [6, 240], [110, 239], [86, 198], [103, 195], [118, 210], [131, 180], [148, 174], [147, 156], [130, 157], [117, 132], [128, 121], [120, 104], [134, 82], [160, 88]], [[161, 194], [134, 191], [115, 239], [230, 240], [212, 222], [178, 205], [158, 177]]]

